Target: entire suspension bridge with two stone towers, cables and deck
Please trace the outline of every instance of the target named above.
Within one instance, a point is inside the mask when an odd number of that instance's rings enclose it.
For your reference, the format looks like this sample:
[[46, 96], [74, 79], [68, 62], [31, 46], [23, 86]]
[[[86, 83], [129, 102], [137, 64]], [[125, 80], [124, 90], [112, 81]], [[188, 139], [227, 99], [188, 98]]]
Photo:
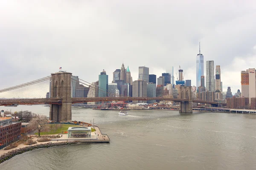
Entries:
[[[148, 101], [148, 100], [166, 100], [180, 102], [180, 113], [192, 113], [192, 103], [207, 103], [211, 105], [218, 105], [217, 102], [208, 102], [198, 99], [192, 99], [192, 87], [182, 86], [179, 91], [179, 98], [166, 98], [166, 97], [86, 97], [86, 98], [72, 98], [71, 97], [71, 84], [76, 82], [82, 85], [90, 86], [98, 91], [99, 89], [84, 80], [73, 79], [72, 73], [59, 71], [51, 74], [51, 76], [37, 79], [21, 85], [16, 85], [10, 88], [0, 90], [1, 98], [0, 105], [38, 105], [49, 104], [50, 120], [56, 122], [70, 122], [72, 120], [71, 107], [74, 103], [81, 102], [108, 102], [108, 101]], [[49, 83], [51, 82], [51, 83]], [[51, 84], [51, 85], [50, 85]], [[50, 87], [49, 87], [50, 86]], [[39, 92], [49, 91], [49, 98], [35, 97]]]

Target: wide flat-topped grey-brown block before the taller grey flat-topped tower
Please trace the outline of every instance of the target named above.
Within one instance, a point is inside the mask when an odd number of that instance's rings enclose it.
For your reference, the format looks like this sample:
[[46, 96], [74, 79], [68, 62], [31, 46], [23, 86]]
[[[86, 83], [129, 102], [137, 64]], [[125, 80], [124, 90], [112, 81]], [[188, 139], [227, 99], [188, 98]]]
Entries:
[[[133, 97], [147, 97], [147, 82], [144, 80], [135, 80], [132, 83], [132, 96]], [[143, 102], [143, 101], [134, 101]]]

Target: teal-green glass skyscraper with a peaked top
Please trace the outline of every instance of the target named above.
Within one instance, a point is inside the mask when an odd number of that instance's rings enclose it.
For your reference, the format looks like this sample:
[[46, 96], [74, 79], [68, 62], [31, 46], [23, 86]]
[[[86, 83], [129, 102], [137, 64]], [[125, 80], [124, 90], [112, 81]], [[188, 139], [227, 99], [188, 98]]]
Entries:
[[108, 75], [103, 70], [99, 75], [99, 97], [108, 96]]

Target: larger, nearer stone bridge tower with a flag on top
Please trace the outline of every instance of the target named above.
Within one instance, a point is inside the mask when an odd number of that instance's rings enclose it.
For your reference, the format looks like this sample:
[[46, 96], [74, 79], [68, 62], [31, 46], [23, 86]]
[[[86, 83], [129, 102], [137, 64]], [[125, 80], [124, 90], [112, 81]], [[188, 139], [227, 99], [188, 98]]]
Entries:
[[65, 71], [52, 73], [50, 98], [62, 99], [61, 104], [50, 105], [50, 120], [55, 122], [71, 122], [71, 75]]

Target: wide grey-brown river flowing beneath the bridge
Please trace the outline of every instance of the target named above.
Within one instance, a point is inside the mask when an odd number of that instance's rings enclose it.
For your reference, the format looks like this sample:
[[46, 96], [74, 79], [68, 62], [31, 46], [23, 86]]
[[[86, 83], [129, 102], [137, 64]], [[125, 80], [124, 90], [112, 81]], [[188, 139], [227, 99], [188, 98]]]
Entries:
[[[0, 107], [49, 116], [40, 105]], [[33, 150], [0, 170], [252, 170], [256, 168], [256, 115], [178, 111], [97, 111], [72, 108], [73, 120], [93, 121], [109, 144]]]

